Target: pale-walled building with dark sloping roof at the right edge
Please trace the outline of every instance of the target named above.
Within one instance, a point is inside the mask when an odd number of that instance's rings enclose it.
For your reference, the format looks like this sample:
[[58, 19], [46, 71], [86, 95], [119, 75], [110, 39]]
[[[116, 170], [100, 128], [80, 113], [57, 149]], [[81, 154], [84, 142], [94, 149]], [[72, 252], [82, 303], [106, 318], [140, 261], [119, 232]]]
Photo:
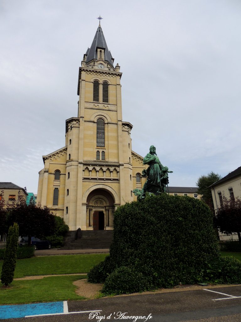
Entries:
[[[210, 185], [214, 210], [216, 211], [225, 198], [241, 199], [241, 166]], [[220, 240], [238, 240], [237, 234], [225, 235], [219, 232]]]

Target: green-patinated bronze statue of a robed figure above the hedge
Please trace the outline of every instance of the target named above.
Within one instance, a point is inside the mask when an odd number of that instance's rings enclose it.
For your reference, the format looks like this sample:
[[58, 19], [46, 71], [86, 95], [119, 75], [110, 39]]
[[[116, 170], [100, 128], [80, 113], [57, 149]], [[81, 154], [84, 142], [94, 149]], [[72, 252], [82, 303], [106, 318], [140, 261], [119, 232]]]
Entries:
[[143, 159], [143, 164], [148, 164], [147, 170], [142, 171], [142, 177], [147, 177], [147, 181], [143, 185], [142, 189], [134, 189], [133, 193], [137, 196], [138, 200], [142, 200], [145, 196], [151, 194], [161, 194], [166, 192], [166, 185], [168, 185], [168, 173], [167, 166], [163, 166], [156, 155], [156, 148], [154, 145], [150, 146], [150, 153]]

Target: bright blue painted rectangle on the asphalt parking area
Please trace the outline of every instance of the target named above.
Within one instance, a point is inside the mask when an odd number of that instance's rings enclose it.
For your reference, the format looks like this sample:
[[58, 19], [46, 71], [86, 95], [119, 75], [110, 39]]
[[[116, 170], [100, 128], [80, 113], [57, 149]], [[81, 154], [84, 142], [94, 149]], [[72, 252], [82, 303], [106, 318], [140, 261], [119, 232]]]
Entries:
[[26, 315], [63, 313], [63, 302], [48, 302], [19, 305], [1, 305], [0, 319], [25, 317]]

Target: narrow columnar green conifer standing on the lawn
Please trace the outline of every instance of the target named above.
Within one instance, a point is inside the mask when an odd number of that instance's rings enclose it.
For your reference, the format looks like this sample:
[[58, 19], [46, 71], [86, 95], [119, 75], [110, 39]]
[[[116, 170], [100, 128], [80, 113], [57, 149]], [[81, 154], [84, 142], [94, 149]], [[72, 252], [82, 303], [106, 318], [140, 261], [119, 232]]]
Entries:
[[10, 226], [8, 230], [7, 243], [1, 273], [1, 282], [5, 287], [8, 287], [8, 285], [13, 281], [17, 260], [18, 236], [18, 224], [14, 223], [13, 226]]

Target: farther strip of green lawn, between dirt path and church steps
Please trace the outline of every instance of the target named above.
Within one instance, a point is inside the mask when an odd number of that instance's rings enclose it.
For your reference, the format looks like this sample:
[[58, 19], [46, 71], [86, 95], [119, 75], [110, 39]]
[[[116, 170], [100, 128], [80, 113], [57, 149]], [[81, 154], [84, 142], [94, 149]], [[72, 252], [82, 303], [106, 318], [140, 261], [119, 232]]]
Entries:
[[[87, 273], [107, 254], [39, 256], [17, 260], [14, 278], [35, 275]], [[0, 272], [3, 260], [0, 260]]]

